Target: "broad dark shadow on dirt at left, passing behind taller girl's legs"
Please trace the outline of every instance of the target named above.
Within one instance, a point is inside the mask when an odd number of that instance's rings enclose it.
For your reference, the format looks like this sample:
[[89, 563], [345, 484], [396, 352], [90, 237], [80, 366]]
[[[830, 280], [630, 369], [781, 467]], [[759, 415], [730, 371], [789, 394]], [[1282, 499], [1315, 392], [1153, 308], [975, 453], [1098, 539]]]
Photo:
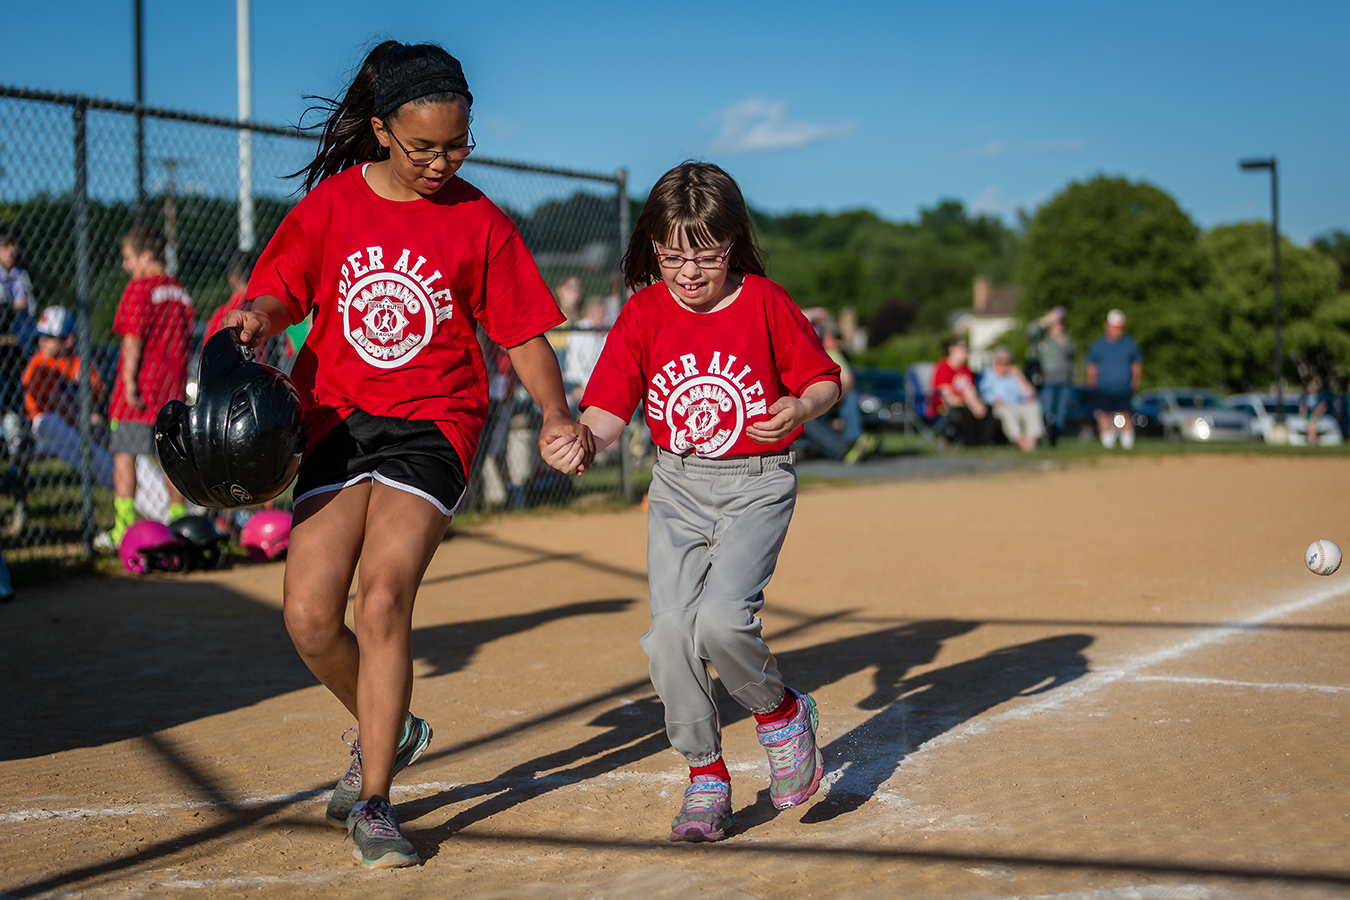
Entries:
[[[189, 579], [105, 579], [0, 607], [7, 673], [0, 761], [150, 735], [317, 684], [275, 606]], [[30, 599], [31, 598], [31, 599]], [[477, 648], [634, 600], [570, 603], [417, 629], [435, 675]]]

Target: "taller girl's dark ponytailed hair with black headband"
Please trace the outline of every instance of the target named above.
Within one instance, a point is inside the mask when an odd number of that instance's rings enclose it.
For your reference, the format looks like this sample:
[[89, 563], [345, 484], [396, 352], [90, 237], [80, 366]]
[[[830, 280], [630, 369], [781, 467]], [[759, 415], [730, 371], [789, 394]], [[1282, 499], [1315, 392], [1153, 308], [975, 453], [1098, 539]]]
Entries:
[[316, 101], [305, 113], [327, 116], [315, 159], [292, 178], [304, 177], [304, 189], [313, 189], [328, 175], [363, 162], [389, 157], [370, 127], [373, 117], [392, 120], [405, 103], [463, 103], [471, 107], [459, 61], [432, 43], [404, 45], [385, 40], [371, 50], [340, 100], [306, 97]]

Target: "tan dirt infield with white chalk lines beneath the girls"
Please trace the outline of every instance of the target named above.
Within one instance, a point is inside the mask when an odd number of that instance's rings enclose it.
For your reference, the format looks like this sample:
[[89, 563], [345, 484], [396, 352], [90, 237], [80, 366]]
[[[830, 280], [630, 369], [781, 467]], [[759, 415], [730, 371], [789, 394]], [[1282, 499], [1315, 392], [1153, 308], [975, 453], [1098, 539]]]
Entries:
[[[458, 532], [416, 613], [436, 729], [394, 801], [425, 858], [323, 823], [343, 711], [282, 567], [85, 580], [0, 607], [0, 896], [1346, 897], [1350, 460], [1114, 457], [811, 486], [765, 634], [829, 775], [776, 812], [724, 706], [733, 835], [647, 681], [640, 510]], [[396, 536], [390, 536], [394, 540]]]

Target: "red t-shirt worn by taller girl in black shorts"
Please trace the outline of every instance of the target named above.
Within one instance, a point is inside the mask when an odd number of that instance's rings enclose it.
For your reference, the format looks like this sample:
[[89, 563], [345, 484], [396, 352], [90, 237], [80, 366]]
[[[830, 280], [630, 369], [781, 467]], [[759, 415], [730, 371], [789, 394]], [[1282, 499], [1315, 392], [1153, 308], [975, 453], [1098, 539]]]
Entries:
[[292, 379], [310, 449], [354, 410], [436, 422], [467, 467], [487, 417], [475, 324], [516, 347], [564, 320], [520, 232], [454, 178], [385, 200], [352, 166], [282, 220], [248, 279], [313, 328]]

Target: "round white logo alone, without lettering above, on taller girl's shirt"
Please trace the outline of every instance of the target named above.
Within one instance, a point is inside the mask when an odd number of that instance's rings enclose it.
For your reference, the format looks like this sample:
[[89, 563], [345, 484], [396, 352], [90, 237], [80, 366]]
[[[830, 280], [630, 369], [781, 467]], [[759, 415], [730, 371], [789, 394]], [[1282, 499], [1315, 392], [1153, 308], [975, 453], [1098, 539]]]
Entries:
[[397, 368], [431, 343], [436, 309], [412, 278], [371, 273], [351, 286], [346, 300], [343, 335], [371, 366]]

